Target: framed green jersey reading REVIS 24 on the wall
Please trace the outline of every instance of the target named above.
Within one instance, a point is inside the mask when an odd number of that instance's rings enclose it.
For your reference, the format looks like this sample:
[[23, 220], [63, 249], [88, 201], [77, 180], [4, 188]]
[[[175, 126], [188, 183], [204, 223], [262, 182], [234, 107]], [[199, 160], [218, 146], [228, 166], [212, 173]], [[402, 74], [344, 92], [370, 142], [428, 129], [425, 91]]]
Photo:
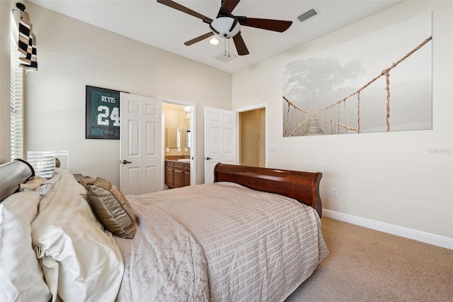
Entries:
[[85, 137], [120, 139], [120, 91], [86, 86]]

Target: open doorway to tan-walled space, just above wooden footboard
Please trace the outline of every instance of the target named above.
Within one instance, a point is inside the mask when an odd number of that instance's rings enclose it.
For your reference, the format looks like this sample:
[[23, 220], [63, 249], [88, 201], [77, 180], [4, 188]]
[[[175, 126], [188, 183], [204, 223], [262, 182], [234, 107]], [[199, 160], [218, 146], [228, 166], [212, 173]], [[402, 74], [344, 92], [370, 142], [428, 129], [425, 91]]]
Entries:
[[266, 109], [239, 112], [239, 164], [265, 167]]

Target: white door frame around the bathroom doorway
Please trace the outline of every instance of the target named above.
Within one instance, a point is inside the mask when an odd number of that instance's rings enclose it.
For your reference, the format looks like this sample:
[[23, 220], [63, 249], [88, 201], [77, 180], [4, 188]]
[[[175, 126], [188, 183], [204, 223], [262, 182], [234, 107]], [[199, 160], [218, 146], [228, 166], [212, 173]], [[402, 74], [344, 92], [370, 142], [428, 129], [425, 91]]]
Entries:
[[[190, 146], [190, 186], [197, 184], [197, 164], [196, 154], [197, 154], [197, 130], [196, 128], [196, 104], [190, 103], [188, 101], [180, 101], [176, 99], [168, 99], [158, 96], [157, 99], [163, 103], [175, 104], [180, 106], [190, 107], [190, 141], [192, 145]], [[164, 135], [164, 125], [162, 125], [162, 135]], [[164, 142], [164, 140], [162, 140]], [[162, 152], [162, 174], [164, 175], [165, 171], [165, 152]], [[165, 177], [162, 177], [162, 187], [165, 187]]]

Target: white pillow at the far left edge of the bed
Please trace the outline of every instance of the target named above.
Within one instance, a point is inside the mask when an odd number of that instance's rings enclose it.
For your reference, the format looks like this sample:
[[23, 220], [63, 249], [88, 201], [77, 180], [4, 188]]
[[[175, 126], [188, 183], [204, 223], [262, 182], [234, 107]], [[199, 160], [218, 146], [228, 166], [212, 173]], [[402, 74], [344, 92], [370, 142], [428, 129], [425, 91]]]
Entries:
[[24, 191], [0, 203], [0, 301], [51, 298], [31, 242], [30, 223], [40, 199], [40, 194]]

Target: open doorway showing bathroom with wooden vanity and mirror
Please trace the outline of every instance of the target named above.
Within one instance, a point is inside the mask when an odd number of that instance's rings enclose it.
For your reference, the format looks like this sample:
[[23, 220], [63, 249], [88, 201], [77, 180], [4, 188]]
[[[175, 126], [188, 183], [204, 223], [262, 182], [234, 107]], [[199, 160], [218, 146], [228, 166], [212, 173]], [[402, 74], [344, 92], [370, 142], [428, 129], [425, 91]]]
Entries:
[[194, 106], [162, 99], [164, 188], [196, 183]]

